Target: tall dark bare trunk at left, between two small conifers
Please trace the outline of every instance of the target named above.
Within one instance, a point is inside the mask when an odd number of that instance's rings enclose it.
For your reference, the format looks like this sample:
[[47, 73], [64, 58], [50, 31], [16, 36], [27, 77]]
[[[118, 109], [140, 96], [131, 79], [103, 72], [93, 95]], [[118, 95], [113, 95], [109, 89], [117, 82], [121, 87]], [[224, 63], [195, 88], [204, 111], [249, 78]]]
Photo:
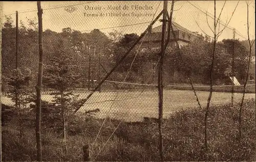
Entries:
[[38, 45], [39, 45], [39, 65], [38, 79], [36, 85], [36, 160], [42, 161], [42, 146], [41, 146], [41, 86], [42, 86], [42, 71], [44, 63], [44, 54], [42, 52], [42, 9], [41, 2], [37, 2], [38, 15]]

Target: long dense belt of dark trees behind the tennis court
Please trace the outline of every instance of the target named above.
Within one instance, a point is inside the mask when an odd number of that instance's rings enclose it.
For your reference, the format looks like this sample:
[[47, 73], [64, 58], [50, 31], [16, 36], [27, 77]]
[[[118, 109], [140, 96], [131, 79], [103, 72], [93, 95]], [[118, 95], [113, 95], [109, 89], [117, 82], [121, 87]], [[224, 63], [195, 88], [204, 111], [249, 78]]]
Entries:
[[[24, 22], [21, 24], [19, 28], [18, 67], [21, 70], [29, 67], [32, 74], [36, 75], [36, 60], [38, 60], [37, 24], [31, 20], [28, 20], [28, 27]], [[77, 66], [75, 72], [81, 78], [77, 87], [86, 88], [90, 74], [92, 78], [92, 71], [94, 71], [94, 79], [96, 80], [105, 76], [106, 73], [99, 63], [109, 72], [139, 36], [134, 33], [123, 34], [117, 31], [107, 35], [98, 29], [90, 33], [81, 33], [71, 28], [63, 28], [60, 33], [47, 29], [43, 32], [43, 37], [45, 64], [48, 65], [50, 60], [58, 55], [59, 50], [65, 51], [72, 58], [73, 65]], [[15, 28], [10, 17], [6, 17], [2, 39], [2, 74], [10, 77], [11, 70], [15, 68], [13, 61], [15, 60]], [[217, 42], [214, 67], [215, 84], [228, 84], [230, 82], [232, 43], [231, 39]], [[142, 47], [139, 49], [139, 46], [140, 43], [113, 73], [112, 76], [115, 80], [122, 81], [128, 74], [126, 81], [129, 82], [154, 82], [152, 78], [156, 78], [156, 75], [152, 75], [152, 71], [158, 61], [157, 50], [151, 48], [141, 50]], [[245, 79], [246, 60], [248, 58], [247, 46], [245, 41], [236, 40], [234, 43], [234, 74], [241, 83]], [[164, 67], [166, 84], [186, 83], [188, 75], [192, 76], [195, 83], [208, 84], [211, 48], [212, 42], [207, 36], [200, 36], [198, 41], [183, 46], [181, 48], [182, 56], [178, 54], [177, 49], [169, 47], [166, 52]], [[131, 66], [132, 62], [133, 66]], [[90, 71], [89, 64], [91, 65]], [[131, 70], [130, 67], [132, 67]], [[99, 73], [99, 68], [101, 68], [101, 73]]]

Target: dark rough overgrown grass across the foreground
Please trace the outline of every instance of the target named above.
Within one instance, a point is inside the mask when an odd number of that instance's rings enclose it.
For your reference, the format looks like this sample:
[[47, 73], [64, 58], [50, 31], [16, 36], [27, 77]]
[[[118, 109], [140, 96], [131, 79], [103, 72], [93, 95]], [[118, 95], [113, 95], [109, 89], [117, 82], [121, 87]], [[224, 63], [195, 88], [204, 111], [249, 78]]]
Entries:
[[[163, 122], [164, 159], [168, 161], [255, 161], [256, 129], [255, 100], [247, 100], [243, 108], [242, 138], [238, 134], [239, 107], [229, 104], [210, 107], [208, 119], [209, 150], [203, 148], [204, 110], [177, 111]], [[12, 119], [15, 120], [15, 119]], [[2, 157], [4, 160], [31, 161], [36, 159], [35, 132], [26, 128], [22, 141], [15, 131], [15, 122], [2, 127]], [[68, 153], [62, 148], [61, 135], [54, 128], [42, 131], [43, 160], [81, 161], [82, 146], [89, 144], [91, 159], [100, 161], [158, 161], [158, 126], [148, 122], [122, 122], [108, 144], [102, 146], [120, 120], [106, 119], [102, 130], [92, 143], [102, 119], [77, 118], [68, 127]]]

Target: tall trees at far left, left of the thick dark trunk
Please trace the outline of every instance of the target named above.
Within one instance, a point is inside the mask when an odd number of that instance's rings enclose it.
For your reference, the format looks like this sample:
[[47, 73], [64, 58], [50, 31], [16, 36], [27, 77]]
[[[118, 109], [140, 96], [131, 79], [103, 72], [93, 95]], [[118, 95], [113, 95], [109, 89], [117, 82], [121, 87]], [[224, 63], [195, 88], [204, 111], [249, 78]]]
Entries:
[[[29, 20], [30, 21], [30, 20]], [[32, 25], [32, 22], [29, 22]], [[36, 60], [38, 59], [35, 53], [37, 49], [38, 31], [36, 29], [36, 22], [33, 21], [33, 28], [27, 28], [23, 21], [20, 21], [18, 28], [18, 49], [17, 59], [18, 67], [24, 71], [27, 67], [31, 68], [32, 74], [36, 74]], [[15, 68], [15, 28], [11, 17], [6, 17], [4, 28], [2, 30], [2, 73], [7, 77], [11, 76], [11, 70]]]

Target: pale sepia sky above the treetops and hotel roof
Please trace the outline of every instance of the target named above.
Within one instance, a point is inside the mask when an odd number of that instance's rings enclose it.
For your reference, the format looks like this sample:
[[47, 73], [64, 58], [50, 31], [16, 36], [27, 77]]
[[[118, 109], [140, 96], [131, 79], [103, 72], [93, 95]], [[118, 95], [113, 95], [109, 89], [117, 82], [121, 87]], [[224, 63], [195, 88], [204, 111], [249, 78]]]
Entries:
[[[250, 36], [255, 37], [255, 2], [249, 6]], [[216, 2], [216, 12], [219, 16], [225, 1]], [[234, 8], [238, 4], [236, 10]], [[171, 1], [168, 1], [168, 12]], [[43, 29], [60, 32], [62, 28], [71, 27], [74, 30], [90, 32], [100, 29], [104, 33], [116, 30], [122, 33], [141, 34], [150, 22], [161, 12], [163, 1], [110, 1], [110, 2], [41, 2], [43, 9]], [[73, 12], [65, 9], [73, 7]], [[69, 8], [71, 9], [71, 8]], [[212, 36], [214, 21], [214, 1], [177, 1], [174, 4], [174, 21], [192, 32]], [[36, 2], [2, 2], [2, 18], [9, 15], [15, 21], [15, 11], [18, 11], [19, 21], [27, 25], [27, 20], [37, 21]], [[233, 13], [234, 11], [234, 13]], [[207, 13], [207, 15], [206, 15]], [[232, 15], [233, 13], [233, 15]], [[231, 17], [232, 15], [232, 17]], [[210, 16], [210, 17], [209, 17]], [[207, 17], [207, 18], [206, 18]], [[231, 19], [230, 19], [231, 17]], [[162, 16], [161, 16], [162, 18]], [[236, 29], [236, 38], [247, 39], [247, 7], [245, 1], [226, 1], [220, 16], [221, 24], [217, 31], [222, 31], [229, 19], [219, 40], [232, 38]], [[207, 23], [208, 21], [208, 23]], [[157, 21], [153, 27], [161, 25]]]

